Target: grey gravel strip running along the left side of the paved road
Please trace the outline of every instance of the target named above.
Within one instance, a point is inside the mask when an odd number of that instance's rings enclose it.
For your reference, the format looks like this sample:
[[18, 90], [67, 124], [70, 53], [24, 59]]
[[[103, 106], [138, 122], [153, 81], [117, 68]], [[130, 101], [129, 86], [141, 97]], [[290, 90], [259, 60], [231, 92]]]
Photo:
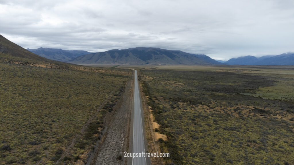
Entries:
[[133, 98], [133, 80], [129, 80], [125, 92], [114, 107], [115, 114], [108, 116], [105, 123], [107, 134], [97, 153], [96, 165], [127, 164], [124, 151], [128, 148], [130, 134], [130, 114]]

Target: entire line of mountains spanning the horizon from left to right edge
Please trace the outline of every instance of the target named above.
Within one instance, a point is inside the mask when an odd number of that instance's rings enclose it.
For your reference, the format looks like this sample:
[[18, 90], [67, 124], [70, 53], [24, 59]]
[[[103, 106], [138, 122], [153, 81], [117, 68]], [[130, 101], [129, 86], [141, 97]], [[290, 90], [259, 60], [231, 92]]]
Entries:
[[[294, 65], [294, 53], [265, 55], [262, 57], [244, 56], [232, 58], [223, 63], [201, 54], [190, 54], [180, 50], [160, 48], [114, 49], [100, 53], [83, 50], [62, 50], [52, 48], [24, 49], [0, 35], [0, 54], [29, 58], [40, 61], [58, 60], [74, 64], [159, 64], [159, 65]], [[38, 55], [36, 55], [38, 54]]]

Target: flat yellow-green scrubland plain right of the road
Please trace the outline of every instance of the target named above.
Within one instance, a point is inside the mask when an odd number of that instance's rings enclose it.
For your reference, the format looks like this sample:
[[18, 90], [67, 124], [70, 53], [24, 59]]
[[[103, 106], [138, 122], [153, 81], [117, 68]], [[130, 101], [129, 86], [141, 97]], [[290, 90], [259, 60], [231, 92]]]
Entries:
[[293, 164], [293, 99], [239, 94], [293, 84], [293, 76], [277, 81], [277, 74], [256, 69], [201, 70], [213, 71], [141, 70], [160, 132], [168, 136], [159, 140], [161, 151], [171, 153], [166, 163]]

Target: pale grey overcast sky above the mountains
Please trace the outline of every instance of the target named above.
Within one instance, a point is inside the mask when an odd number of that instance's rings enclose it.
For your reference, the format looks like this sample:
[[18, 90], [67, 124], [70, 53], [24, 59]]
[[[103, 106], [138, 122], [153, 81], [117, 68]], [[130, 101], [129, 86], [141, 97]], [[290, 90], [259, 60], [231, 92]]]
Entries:
[[228, 60], [294, 51], [293, 0], [0, 0], [0, 34], [24, 48], [157, 47]]

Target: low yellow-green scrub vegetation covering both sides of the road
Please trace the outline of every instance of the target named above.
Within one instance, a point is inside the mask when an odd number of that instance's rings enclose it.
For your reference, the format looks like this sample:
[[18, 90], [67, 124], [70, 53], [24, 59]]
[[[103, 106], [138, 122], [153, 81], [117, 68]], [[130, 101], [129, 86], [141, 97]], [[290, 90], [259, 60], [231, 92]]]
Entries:
[[[86, 163], [131, 71], [54, 62], [3, 43], [0, 164]], [[294, 164], [293, 67], [144, 67], [166, 164]]]

